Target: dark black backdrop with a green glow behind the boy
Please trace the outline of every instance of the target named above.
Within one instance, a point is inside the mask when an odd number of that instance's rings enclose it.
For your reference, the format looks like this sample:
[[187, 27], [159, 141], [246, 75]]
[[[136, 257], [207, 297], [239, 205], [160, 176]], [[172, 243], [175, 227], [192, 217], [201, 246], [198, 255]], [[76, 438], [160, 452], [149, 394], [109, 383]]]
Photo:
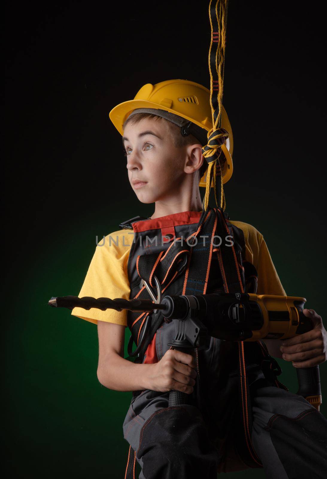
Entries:
[[[181, 78], [210, 88], [208, 5], [6, 4], [9, 477], [124, 477], [131, 393], [100, 385], [96, 326], [47, 301], [78, 295], [96, 235], [153, 213], [135, 201], [108, 113], [145, 83]], [[226, 211], [264, 235], [287, 294], [326, 318], [325, 29], [317, 7], [297, 5], [230, 1], [223, 101], [235, 170]], [[293, 366], [280, 364], [296, 392]], [[320, 372], [327, 394], [326, 364]]]

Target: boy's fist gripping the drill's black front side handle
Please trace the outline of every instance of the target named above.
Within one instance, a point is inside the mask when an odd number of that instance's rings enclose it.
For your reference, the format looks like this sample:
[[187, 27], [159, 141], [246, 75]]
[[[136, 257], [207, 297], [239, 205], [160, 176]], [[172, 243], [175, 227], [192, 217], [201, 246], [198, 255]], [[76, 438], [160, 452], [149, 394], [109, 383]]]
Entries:
[[192, 394], [197, 374], [195, 368], [195, 359], [191, 354], [169, 349], [158, 363], [153, 364], [149, 389], [161, 392], [175, 389]]

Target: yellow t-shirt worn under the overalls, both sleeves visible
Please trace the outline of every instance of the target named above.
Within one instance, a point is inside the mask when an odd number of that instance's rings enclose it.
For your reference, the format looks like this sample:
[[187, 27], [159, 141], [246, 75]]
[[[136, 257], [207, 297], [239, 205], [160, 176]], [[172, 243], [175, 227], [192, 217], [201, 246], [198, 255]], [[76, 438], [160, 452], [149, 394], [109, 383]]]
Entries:
[[[229, 221], [244, 233], [245, 260], [252, 263], [258, 271], [257, 294], [282, 295], [282, 287], [263, 236], [248, 223]], [[107, 235], [95, 249], [79, 297], [109, 297], [111, 299], [129, 299], [130, 286], [127, 273], [129, 251], [133, 243], [133, 230], [121, 229]], [[103, 246], [101, 246], [101, 244]], [[94, 324], [107, 321], [127, 326], [127, 310], [74, 308], [73, 316], [86, 319]]]

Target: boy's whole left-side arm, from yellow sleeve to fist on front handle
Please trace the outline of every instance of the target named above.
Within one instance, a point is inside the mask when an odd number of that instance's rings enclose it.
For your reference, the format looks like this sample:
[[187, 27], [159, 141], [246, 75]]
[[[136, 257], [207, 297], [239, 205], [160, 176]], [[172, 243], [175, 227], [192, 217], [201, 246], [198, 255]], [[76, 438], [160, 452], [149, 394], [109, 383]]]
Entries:
[[[124, 230], [116, 231], [105, 238], [102, 246], [97, 245], [79, 297], [129, 299], [127, 263], [130, 244], [124, 238], [125, 234]], [[112, 242], [110, 238], [113, 238]], [[124, 359], [126, 310], [74, 308], [71, 314], [98, 325], [97, 376], [106, 388], [117, 391], [151, 389], [163, 392], [177, 389], [192, 393], [196, 373], [191, 355], [169, 350], [155, 364], [135, 364]]]

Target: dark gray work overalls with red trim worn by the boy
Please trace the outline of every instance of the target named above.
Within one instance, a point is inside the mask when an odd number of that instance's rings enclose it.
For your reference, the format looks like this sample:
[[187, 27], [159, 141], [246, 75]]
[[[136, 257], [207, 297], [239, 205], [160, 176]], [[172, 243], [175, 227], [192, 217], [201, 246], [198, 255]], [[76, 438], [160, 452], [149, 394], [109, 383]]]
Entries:
[[[135, 238], [128, 261], [130, 298], [149, 298], [146, 291], [140, 294], [141, 277], [149, 277], [142, 270], [142, 258], [149, 259], [152, 267], [151, 259], [154, 262], [160, 251], [167, 251], [174, 237], [187, 239], [196, 231], [199, 215], [185, 212], [132, 223]], [[244, 235], [228, 221], [227, 225], [246, 287]], [[185, 271], [179, 272], [175, 266], [162, 297], [183, 294]], [[194, 291], [197, 294], [196, 285]], [[219, 291], [223, 292], [224, 287], [218, 254], [213, 254], [206, 294]], [[151, 313], [150, 318], [156, 329], [158, 361], [175, 336], [174, 321], [168, 322], [160, 314]], [[128, 312], [135, 344], [142, 336], [139, 326], [145, 320], [145, 314]], [[326, 477], [325, 417], [277, 380], [272, 367], [276, 361], [264, 343], [244, 342], [243, 375], [238, 346], [237, 342], [207, 336], [205, 348], [198, 351], [197, 384], [189, 404], [168, 407], [169, 392], [133, 392], [123, 424], [124, 438], [130, 445], [125, 478], [133, 477], [135, 459], [142, 468], [140, 479], [183, 479], [198, 474], [215, 478], [218, 472], [262, 467], [271, 479]], [[145, 361], [145, 349], [136, 362]], [[240, 376], [245, 376], [246, 388], [240, 387]]]

